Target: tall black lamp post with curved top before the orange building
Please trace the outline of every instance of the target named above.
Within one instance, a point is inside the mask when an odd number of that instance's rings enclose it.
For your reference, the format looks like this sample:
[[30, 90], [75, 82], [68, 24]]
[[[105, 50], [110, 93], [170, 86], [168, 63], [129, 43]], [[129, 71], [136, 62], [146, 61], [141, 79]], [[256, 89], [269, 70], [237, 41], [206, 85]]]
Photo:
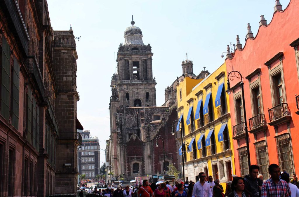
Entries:
[[236, 77], [237, 79], [241, 80], [241, 93], [242, 93], [242, 108], [243, 108], [243, 117], [244, 117], [244, 128], [245, 128], [245, 139], [246, 139], [246, 149], [247, 149], [247, 157], [248, 157], [248, 169], [250, 167], [250, 152], [249, 152], [249, 135], [248, 135], [248, 128], [247, 128], [247, 119], [246, 119], [246, 108], [245, 108], [245, 97], [244, 97], [244, 82], [243, 82], [243, 77], [239, 71], [231, 71], [228, 73], [228, 79], [227, 79], [227, 90], [226, 93], [228, 95], [231, 94], [231, 86], [229, 80], [233, 81], [234, 78]]

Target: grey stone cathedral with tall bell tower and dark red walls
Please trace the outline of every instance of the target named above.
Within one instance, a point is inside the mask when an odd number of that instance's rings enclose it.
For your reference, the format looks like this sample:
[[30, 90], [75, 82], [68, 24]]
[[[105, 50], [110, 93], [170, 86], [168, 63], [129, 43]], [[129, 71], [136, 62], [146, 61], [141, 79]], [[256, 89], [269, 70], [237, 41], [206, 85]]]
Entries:
[[[106, 145], [106, 177], [132, 180], [134, 177], [163, 173], [162, 135], [165, 143], [165, 170], [170, 163], [178, 165], [171, 124], [176, 110], [156, 106], [155, 77], [152, 70], [152, 48], [142, 41], [142, 31], [134, 26], [124, 33], [117, 53], [117, 73], [112, 76], [109, 103], [111, 135]], [[171, 153], [171, 154], [170, 154]]]

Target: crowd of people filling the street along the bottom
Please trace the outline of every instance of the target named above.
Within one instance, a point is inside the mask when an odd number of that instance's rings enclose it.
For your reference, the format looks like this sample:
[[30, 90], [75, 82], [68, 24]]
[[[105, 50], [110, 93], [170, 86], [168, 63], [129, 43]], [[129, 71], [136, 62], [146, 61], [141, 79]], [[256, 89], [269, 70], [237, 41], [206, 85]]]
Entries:
[[226, 182], [226, 189], [213, 177], [199, 173], [199, 181], [175, 182], [173, 186], [168, 181], [158, 184], [149, 184], [144, 180], [142, 185], [118, 186], [106, 190], [95, 189], [94, 193], [108, 197], [299, 197], [299, 181], [296, 174], [280, 172], [277, 164], [269, 165], [270, 177], [263, 179], [259, 174], [260, 167], [251, 165], [249, 174], [243, 177], [234, 176], [232, 181]]

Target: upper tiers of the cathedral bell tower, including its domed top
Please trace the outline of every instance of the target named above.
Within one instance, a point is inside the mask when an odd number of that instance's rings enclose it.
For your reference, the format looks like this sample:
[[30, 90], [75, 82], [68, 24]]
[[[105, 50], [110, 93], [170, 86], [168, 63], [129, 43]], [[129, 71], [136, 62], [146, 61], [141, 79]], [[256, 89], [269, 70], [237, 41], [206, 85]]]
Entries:
[[144, 45], [142, 31], [134, 26], [124, 33], [117, 53], [117, 87], [120, 105], [126, 107], [156, 106], [156, 80], [152, 77], [152, 47]]

